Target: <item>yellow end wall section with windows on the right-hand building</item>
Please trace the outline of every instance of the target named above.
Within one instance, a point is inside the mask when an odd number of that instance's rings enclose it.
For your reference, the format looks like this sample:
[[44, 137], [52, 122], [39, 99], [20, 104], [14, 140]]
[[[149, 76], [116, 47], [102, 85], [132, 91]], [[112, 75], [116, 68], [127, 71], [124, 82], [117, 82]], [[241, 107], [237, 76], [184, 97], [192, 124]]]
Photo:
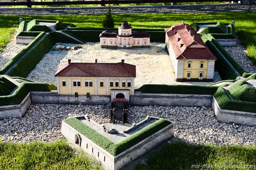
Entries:
[[[200, 68], [200, 63], [204, 62], [203, 68]], [[191, 68], [188, 68], [188, 63], [191, 62]], [[203, 72], [203, 78], [207, 77], [208, 61], [207, 60], [185, 60], [183, 78], [187, 78], [187, 72], [191, 72], [190, 78], [199, 78], [199, 72]]]

